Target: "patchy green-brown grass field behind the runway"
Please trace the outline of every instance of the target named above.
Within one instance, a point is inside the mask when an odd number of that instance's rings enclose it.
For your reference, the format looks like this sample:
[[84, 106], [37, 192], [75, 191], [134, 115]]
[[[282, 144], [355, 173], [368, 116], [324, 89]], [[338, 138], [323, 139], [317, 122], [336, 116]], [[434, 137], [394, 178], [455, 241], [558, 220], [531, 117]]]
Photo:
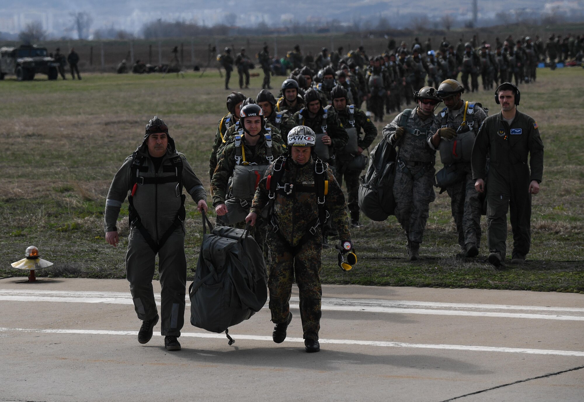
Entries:
[[[277, 86], [278, 82], [274, 82]], [[236, 86], [237, 76], [232, 78]], [[259, 92], [261, 78], [252, 78]], [[208, 155], [217, 120], [225, 114], [223, 81], [205, 74], [85, 74], [82, 81], [0, 82], [0, 271], [10, 269], [27, 246], [55, 263], [37, 274], [61, 277], [124, 278], [127, 239], [114, 249], [103, 233], [110, 181], [123, 159], [140, 144], [144, 126], [157, 114], [169, 124], [179, 151], [208, 187]], [[523, 85], [520, 110], [538, 121], [545, 145], [541, 192], [533, 197], [531, 253], [526, 265], [497, 272], [485, 263], [486, 239], [477, 261], [454, 258], [458, 251], [450, 198], [437, 195], [422, 261], [405, 260], [405, 237], [395, 217], [354, 230], [359, 264], [343, 272], [336, 252], [324, 252], [325, 283], [439, 286], [584, 293], [584, 74], [580, 68], [538, 71], [538, 82]], [[467, 94], [497, 113], [492, 92]], [[385, 118], [385, 123], [392, 118]], [[127, 204], [121, 235], [127, 236]], [[187, 261], [196, 266], [201, 220], [187, 201]], [[483, 218], [483, 228], [485, 219]], [[508, 243], [512, 242], [511, 237]], [[511, 246], [507, 246], [511, 249]], [[189, 278], [193, 277], [189, 271]]]

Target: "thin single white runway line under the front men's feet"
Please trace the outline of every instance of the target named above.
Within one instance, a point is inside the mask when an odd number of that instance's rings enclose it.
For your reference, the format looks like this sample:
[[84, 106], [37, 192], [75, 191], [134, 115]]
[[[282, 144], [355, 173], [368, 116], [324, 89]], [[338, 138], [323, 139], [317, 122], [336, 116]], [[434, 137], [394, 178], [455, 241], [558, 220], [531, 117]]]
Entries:
[[[25, 328], [2, 328], [0, 331], [20, 331], [20, 332], [34, 332], [47, 334], [81, 334], [81, 335], [132, 335], [137, 336], [138, 331], [110, 331], [110, 330], [64, 330], [64, 329], [25, 329]], [[155, 334], [157, 336], [161, 336]], [[230, 334], [235, 340], [251, 340], [251, 341], [272, 341], [272, 337], [258, 336], [258, 335], [234, 335]], [[213, 333], [182, 333], [181, 337], [196, 337], [196, 338], [215, 338], [226, 340], [224, 334]], [[304, 343], [303, 338], [286, 338], [284, 342], [301, 342]], [[471, 346], [471, 345], [432, 345], [432, 344], [410, 344], [404, 342], [384, 342], [384, 341], [359, 341], [350, 339], [320, 339], [321, 344], [336, 344], [336, 345], [363, 345], [363, 346], [377, 346], [390, 348], [420, 348], [420, 349], [449, 349], [460, 351], [474, 351], [474, 352], [503, 352], [503, 353], [525, 353], [536, 355], [558, 355], [558, 356], [580, 356], [584, 357], [584, 352], [580, 351], [564, 351], [564, 350], [550, 350], [550, 349], [525, 349], [525, 348], [501, 348], [491, 346]]]

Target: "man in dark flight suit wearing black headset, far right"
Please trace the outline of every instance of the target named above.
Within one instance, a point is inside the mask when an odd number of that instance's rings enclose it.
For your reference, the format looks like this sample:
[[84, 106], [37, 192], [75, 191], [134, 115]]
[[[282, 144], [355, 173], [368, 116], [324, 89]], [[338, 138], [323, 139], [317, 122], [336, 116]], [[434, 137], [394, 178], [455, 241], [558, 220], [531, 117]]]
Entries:
[[[481, 193], [486, 191], [488, 201], [486, 237], [491, 251], [488, 260], [500, 267], [505, 266], [509, 209], [513, 230], [511, 263], [523, 264], [529, 253], [531, 194], [540, 191], [544, 145], [537, 122], [517, 110], [519, 89], [506, 82], [498, 86], [495, 96], [501, 112], [489, 116], [481, 125], [472, 148], [472, 176], [476, 180], [475, 188]], [[485, 172], [487, 155], [490, 157], [488, 173]]]

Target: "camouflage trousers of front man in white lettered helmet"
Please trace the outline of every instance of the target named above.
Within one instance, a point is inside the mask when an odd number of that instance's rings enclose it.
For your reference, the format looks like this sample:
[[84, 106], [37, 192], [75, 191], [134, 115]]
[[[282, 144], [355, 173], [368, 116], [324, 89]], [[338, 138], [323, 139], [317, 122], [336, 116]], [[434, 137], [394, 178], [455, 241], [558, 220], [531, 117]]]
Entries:
[[316, 236], [309, 236], [306, 242], [293, 248], [273, 230], [269, 230], [266, 235], [270, 272], [267, 287], [270, 291], [272, 321], [276, 324], [286, 322], [296, 275], [304, 339], [318, 340], [321, 328], [321, 238], [318, 230]]

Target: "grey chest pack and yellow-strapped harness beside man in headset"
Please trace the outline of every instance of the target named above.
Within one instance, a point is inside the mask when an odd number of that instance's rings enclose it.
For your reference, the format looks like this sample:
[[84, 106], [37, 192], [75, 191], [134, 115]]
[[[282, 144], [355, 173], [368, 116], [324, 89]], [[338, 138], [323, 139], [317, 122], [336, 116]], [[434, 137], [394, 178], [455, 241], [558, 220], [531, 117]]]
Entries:
[[[440, 139], [440, 160], [444, 165], [450, 165], [456, 162], [470, 162], [472, 146], [476, 137], [474, 131], [474, 114], [475, 102], [464, 103], [463, 122], [457, 128], [457, 136], [453, 139]], [[442, 117], [442, 128], [448, 127], [448, 108], [444, 107], [440, 112]]]

